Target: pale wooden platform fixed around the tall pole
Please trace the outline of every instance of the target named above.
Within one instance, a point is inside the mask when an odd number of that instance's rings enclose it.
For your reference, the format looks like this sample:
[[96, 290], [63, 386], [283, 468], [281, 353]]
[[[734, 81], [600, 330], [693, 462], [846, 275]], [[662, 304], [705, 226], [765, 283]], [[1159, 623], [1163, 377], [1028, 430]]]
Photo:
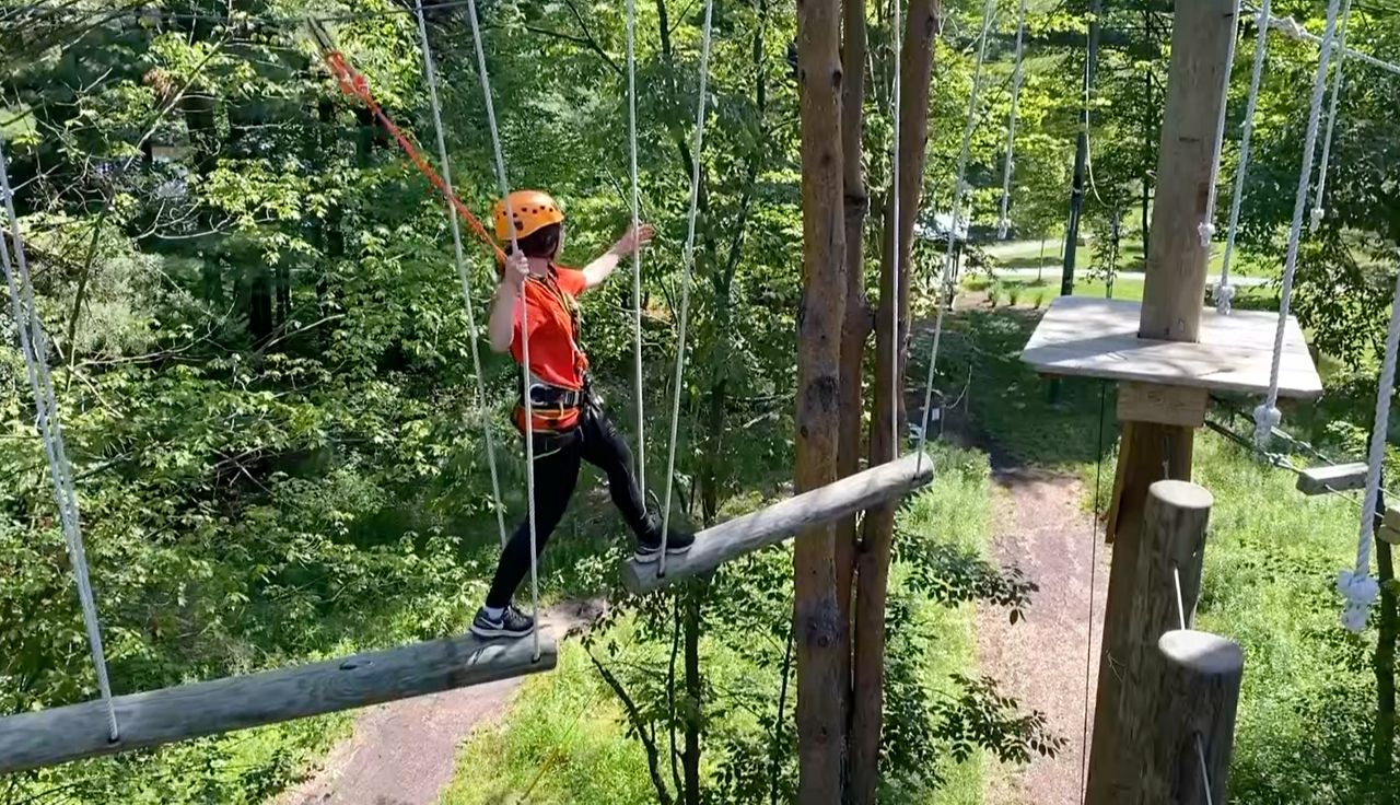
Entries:
[[[1021, 353], [1021, 360], [1049, 375], [1138, 381], [1238, 393], [1268, 391], [1278, 314], [1201, 311], [1201, 340], [1159, 342], [1137, 337], [1140, 304], [1091, 297], [1060, 297]], [[1322, 378], [1308, 354], [1302, 329], [1289, 316], [1278, 393], [1317, 398]]]

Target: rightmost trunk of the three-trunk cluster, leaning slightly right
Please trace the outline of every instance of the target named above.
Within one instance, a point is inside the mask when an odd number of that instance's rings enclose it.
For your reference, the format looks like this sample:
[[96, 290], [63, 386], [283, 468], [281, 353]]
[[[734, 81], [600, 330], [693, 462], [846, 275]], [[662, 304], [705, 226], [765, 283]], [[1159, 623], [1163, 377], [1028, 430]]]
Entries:
[[[871, 423], [871, 466], [892, 461], [899, 444], [893, 433], [903, 433], [904, 365], [909, 330], [909, 252], [924, 183], [928, 144], [928, 87], [938, 35], [938, 0], [910, 0], [904, 29], [900, 77], [900, 164], [899, 221], [893, 220], [886, 199], [883, 248], [881, 255], [881, 305], [875, 326], [875, 414]], [[895, 253], [900, 255], [899, 298], [892, 293]], [[892, 332], [895, 315], [903, 322]], [[892, 354], [897, 337], [897, 361]], [[896, 400], [890, 400], [890, 393]], [[892, 403], [899, 413], [892, 414]], [[890, 421], [895, 416], [897, 421]], [[885, 683], [885, 595], [889, 584], [890, 550], [895, 542], [895, 507], [885, 505], [865, 515], [865, 539], [857, 557], [854, 690], [851, 699], [851, 769], [847, 791], [851, 802], [875, 802], [879, 783], [879, 736], [883, 724]]]

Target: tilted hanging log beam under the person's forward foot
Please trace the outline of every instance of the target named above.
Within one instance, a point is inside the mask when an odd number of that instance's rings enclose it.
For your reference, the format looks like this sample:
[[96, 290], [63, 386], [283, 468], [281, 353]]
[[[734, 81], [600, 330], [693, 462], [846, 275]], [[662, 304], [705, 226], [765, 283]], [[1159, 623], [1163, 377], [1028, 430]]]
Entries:
[[[732, 521], [727, 521], [727, 522], [720, 524], [717, 526], [713, 526], [713, 528], [708, 528], [706, 531], [701, 531], [700, 533], [696, 535], [696, 546], [699, 547], [701, 545], [701, 540], [706, 539], [706, 535], [708, 532], [713, 532], [717, 528], [734, 524], [736, 521], [743, 521], [746, 518], [753, 518], [753, 517], [756, 517], [756, 515], [759, 515], [759, 514], [762, 514], [762, 512], [773, 508], [774, 505], [780, 505], [780, 504], [784, 504], [784, 503], [801, 501], [804, 498], [815, 498], [815, 496], [818, 493], [820, 493], [823, 490], [829, 490], [830, 487], [833, 487], [836, 484], [850, 483], [850, 484], [858, 486], [858, 484], [867, 482], [872, 475], [886, 473], [892, 468], [895, 468], [896, 470], [899, 470], [899, 472], [903, 473], [903, 477], [900, 477], [897, 480], [897, 483], [890, 484], [890, 487], [888, 490], [882, 490], [882, 494], [879, 494], [878, 497], [874, 497], [872, 500], [864, 501], [864, 503], [857, 504], [857, 505], [850, 505], [850, 507], [836, 507], [836, 508], [833, 508], [829, 512], [823, 512], [822, 518], [818, 522], [830, 522], [833, 519], [846, 517], [848, 514], [854, 514], [857, 511], [861, 511], [861, 510], [868, 508], [871, 505], [875, 505], [878, 503], [886, 503], [886, 501], [890, 501], [890, 500], [897, 500], [900, 497], [904, 497], [910, 491], [913, 491], [913, 490], [916, 490], [916, 489], [918, 489], [921, 486], [928, 484], [932, 480], [932, 477], [934, 477], [934, 462], [928, 456], [928, 454], [923, 454], [923, 456], [920, 456], [920, 454], [907, 454], [903, 458], [896, 459], [895, 462], [882, 463], [882, 465], [865, 469], [865, 470], [858, 472], [858, 473], [855, 473], [853, 476], [847, 476], [847, 477], [839, 479], [836, 482], [832, 482], [830, 484], [826, 484], [823, 487], [805, 491], [805, 493], [802, 493], [802, 494], [799, 494], [797, 497], [790, 497], [787, 500], [777, 501], [777, 503], [770, 504], [767, 507], [763, 507], [763, 508], [760, 508], [757, 511], [741, 515], [741, 517], [738, 517], [738, 518], [735, 518]], [[811, 522], [802, 522], [801, 524], [802, 528], [806, 528], [806, 526], [811, 526], [811, 525], [812, 525]], [[732, 528], [732, 525], [731, 525], [731, 528]], [[715, 570], [717, 567], [720, 567], [725, 561], [731, 561], [734, 559], [738, 559], [741, 556], [746, 556], [746, 554], [753, 553], [756, 550], [760, 550], [763, 547], [767, 547], [767, 546], [784, 542], [784, 540], [792, 538], [797, 533], [797, 531], [799, 531], [799, 528], [787, 528], [787, 526], [774, 528], [774, 531], [771, 533], [766, 535], [762, 540], [756, 542], [755, 545], [752, 545], [752, 546], [749, 546], [749, 547], [746, 547], [743, 550], [725, 552], [724, 554], [721, 554], [718, 557], [697, 556], [694, 553], [696, 549], [692, 549], [692, 553], [689, 553], [689, 554], [666, 557], [666, 575], [664, 575], [664, 577], [657, 575], [657, 571], [659, 570], [659, 563], [655, 563], [655, 561], [640, 563], [636, 559], [633, 559], [630, 561], [623, 563], [622, 584], [623, 584], [623, 588], [627, 589], [627, 592], [631, 592], [634, 595], [641, 595], [641, 594], [645, 594], [645, 592], [652, 592], [652, 591], [659, 589], [659, 588], [662, 588], [662, 587], [665, 587], [668, 584], [675, 584], [676, 581], [682, 581], [685, 578], [689, 578], [689, 577], [693, 577], [693, 575], [699, 575], [701, 573], [708, 573], [711, 570]]]

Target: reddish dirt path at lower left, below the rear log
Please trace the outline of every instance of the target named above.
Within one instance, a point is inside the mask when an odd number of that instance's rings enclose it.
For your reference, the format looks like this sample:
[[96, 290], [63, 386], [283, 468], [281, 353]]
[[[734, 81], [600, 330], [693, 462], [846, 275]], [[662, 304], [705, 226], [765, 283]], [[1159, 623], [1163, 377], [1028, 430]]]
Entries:
[[[602, 606], [601, 601], [560, 605], [545, 613], [542, 626], [561, 640]], [[473, 729], [494, 724], [522, 682], [503, 679], [367, 708], [321, 770], [273, 805], [434, 805], [452, 781], [458, 746]]]

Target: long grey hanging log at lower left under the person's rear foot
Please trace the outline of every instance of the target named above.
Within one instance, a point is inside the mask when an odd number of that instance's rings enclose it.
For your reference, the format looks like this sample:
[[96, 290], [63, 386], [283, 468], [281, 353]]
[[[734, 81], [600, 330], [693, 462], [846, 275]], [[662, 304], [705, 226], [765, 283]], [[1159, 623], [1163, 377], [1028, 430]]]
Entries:
[[10, 715], [0, 718], [0, 774], [538, 673], [557, 661], [554, 641], [540, 643], [539, 659], [529, 637], [454, 637], [119, 696], [118, 742], [102, 701]]

